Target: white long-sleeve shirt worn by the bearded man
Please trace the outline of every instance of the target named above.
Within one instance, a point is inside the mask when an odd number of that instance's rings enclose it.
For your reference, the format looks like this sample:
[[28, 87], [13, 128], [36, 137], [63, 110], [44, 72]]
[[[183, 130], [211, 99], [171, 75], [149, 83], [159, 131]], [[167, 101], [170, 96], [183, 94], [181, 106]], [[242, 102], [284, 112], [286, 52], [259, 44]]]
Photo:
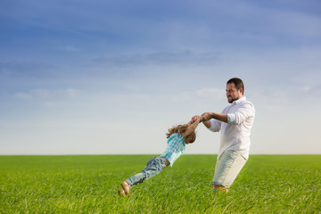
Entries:
[[253, 126], [255, 109], [254, 105], [243, 96], [241, 99], [228, 105], [222, 114], [227, 114], [227, 123], [218, 119], [210, 119], [210, 130], [221, 132], [218, 158], [226, 150], [241, 152], [248, 160], [250, 152], [250, 135]]

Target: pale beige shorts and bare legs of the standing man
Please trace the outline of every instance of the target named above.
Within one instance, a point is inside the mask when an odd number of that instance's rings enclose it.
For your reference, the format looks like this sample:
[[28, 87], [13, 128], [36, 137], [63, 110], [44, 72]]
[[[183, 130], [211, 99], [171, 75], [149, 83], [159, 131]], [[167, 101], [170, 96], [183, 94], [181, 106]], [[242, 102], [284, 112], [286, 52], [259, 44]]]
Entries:
[[224, 152], [215, 167], [213, 178], [213, 187], [222, 193], [227, 193], [230, 185], [233, 184], [235, 178], [243, 168], [246, 160], [239, 152], [227, 150]]

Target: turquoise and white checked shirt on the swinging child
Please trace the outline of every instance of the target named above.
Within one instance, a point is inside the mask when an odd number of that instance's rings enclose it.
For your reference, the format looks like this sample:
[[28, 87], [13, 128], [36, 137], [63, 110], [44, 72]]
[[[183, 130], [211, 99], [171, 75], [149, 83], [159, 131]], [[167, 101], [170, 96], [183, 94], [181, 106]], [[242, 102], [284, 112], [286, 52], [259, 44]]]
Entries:
[[169, 136], [168, 146], [166, 150], [161, 154], [161, 157], [169, 161], [170, 166], [177, 161], [177, 158], [185, 152], [185, 138], [178, 133], [173, 133]]

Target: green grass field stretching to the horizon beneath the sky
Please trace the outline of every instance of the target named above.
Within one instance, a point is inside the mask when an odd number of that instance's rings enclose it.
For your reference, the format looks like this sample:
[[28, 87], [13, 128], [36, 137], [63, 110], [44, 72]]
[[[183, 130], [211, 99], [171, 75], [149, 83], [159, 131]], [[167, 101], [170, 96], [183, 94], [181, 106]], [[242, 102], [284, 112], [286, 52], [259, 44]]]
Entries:
[[321, 213], [321, 155], [251, 155], [226, 194], [216, 155], [183, 155], [119, 196], [153, 156], [0, 156], [0, 213]]

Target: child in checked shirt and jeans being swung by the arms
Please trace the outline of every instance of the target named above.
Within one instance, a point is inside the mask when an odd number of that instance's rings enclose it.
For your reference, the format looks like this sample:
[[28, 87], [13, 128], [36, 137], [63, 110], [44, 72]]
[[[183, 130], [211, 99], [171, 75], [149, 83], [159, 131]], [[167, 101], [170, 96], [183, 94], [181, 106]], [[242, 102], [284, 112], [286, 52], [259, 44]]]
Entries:
[[193, 118], [188, 124], [169, 128], [169, 133], [166, 134], [168, 138], [166, 150], [161, 156], [154, 157], [148, 161], [141, 173], [121, 182], [121, 188], [118, 193], [124, 196], [128, 195], [130, 187], [156, 176], [169, 165], [172, 167], [177, 158], [185, 152], [185, 144], [192, 144], [195, 141], [196, 135], [194, 130], [199, 123], [200, 117]]

